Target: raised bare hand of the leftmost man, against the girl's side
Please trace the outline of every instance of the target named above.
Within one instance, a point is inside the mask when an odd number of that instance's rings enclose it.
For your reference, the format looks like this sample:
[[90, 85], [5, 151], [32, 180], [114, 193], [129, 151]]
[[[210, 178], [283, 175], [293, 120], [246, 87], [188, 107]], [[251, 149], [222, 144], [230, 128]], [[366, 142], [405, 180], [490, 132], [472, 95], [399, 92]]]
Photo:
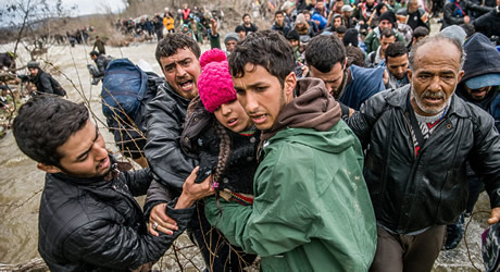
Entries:
[[183, 194], [175, 205], [175, 209], [186, 209], [191, 207], [197, 200], [214, 194], [214, 188], [211, 184], [212, 175], [207, 177], [202, 183], [197, 184], [195, 180], [200, 166], [196, 166], [191, 174], [188, 176], [183, 186]]

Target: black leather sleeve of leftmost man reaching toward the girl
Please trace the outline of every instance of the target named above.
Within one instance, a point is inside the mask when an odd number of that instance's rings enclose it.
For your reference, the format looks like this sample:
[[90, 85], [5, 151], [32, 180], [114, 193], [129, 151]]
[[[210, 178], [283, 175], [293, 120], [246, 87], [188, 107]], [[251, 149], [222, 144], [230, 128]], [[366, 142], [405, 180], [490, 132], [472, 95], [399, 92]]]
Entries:
[[172, 243], [186, 230], [195, 208], [167, 207], [170, 217], [176, 220], [178, 230], [173, 235], [139, 233], [130, 226], [110, 219], [100, 219], [80, 226], [65, 239], [66, 258], [83, 260], [110, 270], [137, 269], [143, 263], [159, 260]]

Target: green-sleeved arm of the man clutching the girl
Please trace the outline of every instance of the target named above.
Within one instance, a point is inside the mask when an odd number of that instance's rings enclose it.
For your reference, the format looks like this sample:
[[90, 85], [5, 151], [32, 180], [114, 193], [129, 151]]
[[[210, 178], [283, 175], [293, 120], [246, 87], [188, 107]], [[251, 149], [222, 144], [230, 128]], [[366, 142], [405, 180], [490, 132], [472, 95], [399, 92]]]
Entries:
[[[286, 149], [287, 147], [285, 147]], [[295, 147], [288, 147], [295, 148]], [[286, 150], [282, 150], [286, 153]], [[279, 152], [279, 151], [277, 151]], [[302, 152], [308, 169], [312, 162], [310, 152]], [[276, 154], [279, 157], [280, 154]], [[266, 160], [268, 157], [266, 157]], [[259, 185], [253, 206], [241, 206], [220, 199], [222, 212], [216, 200], [205, 199], [205, 215], [210, 224], [218, 228], [232, 245], [237, 245], [247, 254], [262, 257], [278, 255], [301, 246], [310, 238], [307, 236], [316, 206], [307, 184], [311, 181], [308, 171], [297, 171], [297, 165], [262, 161], [254, 181]], [[290, 174], [292, 173], [292, 174]], [[301, 194], [297, 194], [301, 191]]]

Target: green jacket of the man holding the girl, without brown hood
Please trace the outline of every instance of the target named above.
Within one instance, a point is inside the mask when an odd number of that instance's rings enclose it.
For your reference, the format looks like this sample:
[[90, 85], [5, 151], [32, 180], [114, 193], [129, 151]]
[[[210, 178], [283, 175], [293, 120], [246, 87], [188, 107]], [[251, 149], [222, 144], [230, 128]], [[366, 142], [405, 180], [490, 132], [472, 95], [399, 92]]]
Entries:
[[262, 271], [367, 271], [376, 223], [351, 129], [285, 128], [265, 141], [252, 207], [207, 199], [209, 222]]

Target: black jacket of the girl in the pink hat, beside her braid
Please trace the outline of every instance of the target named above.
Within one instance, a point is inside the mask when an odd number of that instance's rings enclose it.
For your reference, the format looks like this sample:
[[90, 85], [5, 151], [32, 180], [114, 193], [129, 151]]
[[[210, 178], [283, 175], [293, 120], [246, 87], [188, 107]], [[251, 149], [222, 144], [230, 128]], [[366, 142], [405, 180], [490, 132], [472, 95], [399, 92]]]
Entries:
[[[218, 138], [214, 122], [216, 119], [208, 112], [201, 99], [195, 98], [189, 106], [188, 116], [180, 147], [184, 152], [200, 161], [197, 182], [201, 183], [210, 174], [218, 162], [221, 139]], [[220, 180], [220, 188], [227, 188], [233, 193], [253, 195], [253, 173], [255, 173], [257, 148], [260, 143], [260, 131], [252, 135], [240, 135], [225, 128], [230, 138], [230, 156], [226, 169]]]

